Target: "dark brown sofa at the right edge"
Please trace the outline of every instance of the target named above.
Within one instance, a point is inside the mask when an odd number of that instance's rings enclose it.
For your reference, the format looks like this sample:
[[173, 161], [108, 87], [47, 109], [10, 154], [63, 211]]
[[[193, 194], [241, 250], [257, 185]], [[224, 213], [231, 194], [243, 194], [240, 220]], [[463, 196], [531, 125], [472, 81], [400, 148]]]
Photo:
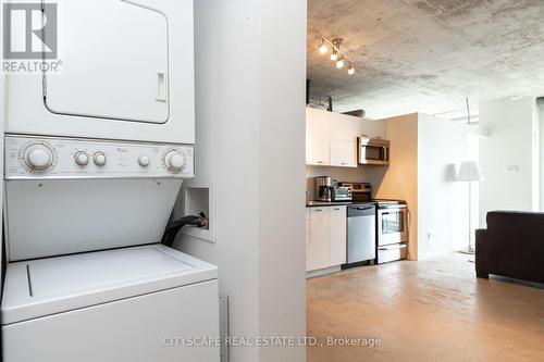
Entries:
[[487, 229], [475, 235], [475, 272], [544, 283], [544, 213], [487, 213]]

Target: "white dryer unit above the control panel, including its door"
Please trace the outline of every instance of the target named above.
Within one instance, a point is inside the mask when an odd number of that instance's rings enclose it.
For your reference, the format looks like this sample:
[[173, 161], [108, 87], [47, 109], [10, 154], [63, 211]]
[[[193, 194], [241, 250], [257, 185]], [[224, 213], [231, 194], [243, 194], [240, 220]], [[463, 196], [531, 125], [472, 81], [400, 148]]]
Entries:
[[7, 75], [5, 133], [193, 145], [193, 0], [54, 3], [60, 65]]

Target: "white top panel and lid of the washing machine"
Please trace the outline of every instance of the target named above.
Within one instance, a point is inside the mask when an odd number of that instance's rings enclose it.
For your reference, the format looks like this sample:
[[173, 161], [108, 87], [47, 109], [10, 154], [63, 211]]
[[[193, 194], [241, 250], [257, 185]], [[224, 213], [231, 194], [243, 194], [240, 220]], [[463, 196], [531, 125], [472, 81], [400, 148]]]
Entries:
[[2, 325], [217, 278], [162, 245], [8, 264]]

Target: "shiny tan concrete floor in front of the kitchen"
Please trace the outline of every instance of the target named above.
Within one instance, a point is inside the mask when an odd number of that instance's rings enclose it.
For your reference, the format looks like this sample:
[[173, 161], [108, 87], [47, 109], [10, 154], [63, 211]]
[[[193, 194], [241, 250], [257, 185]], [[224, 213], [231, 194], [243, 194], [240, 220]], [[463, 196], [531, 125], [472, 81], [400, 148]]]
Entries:
[[[544, 286], [473, 267], [452, 254], [308, 279], [308, 335], [324, 346], [307, 361], [544, 361]], [[326, 347], [327, 336], [382, 346]]]

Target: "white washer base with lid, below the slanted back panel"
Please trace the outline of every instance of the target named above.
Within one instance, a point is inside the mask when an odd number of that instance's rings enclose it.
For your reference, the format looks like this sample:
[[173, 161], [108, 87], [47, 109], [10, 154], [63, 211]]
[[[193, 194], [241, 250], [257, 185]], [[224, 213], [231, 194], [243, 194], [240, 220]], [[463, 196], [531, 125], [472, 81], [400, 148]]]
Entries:
[[161, 245], [8, 265], [4, 362], [219, 361], [213, 265]]

